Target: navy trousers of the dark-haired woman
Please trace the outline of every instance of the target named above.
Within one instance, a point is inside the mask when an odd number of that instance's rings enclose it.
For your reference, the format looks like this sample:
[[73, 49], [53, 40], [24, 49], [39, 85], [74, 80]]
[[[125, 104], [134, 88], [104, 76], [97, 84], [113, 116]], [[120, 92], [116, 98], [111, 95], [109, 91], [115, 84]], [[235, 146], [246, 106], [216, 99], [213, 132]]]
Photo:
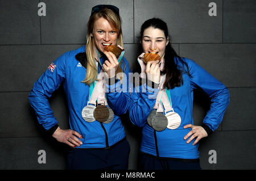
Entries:
[[142, 170], [201, 170], [199, 159], [163, 159], [141, 153]]

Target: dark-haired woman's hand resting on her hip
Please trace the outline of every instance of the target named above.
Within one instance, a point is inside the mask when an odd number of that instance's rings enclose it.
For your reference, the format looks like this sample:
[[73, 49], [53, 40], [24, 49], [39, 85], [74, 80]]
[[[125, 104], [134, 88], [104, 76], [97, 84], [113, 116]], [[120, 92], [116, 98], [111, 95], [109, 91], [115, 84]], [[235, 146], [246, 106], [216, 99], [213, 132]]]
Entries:
[[196, 140], [193, 142], [193, 145], [195, 145], [195, 144], [197, 144], [197, 142], [199, 142], [199, 140], [201, 140], [201, 138], [208, 136], [205, 129], [203, 127], [200, 127], [200, 126], [195, 126], [193, 124], [187, 124], [183, 128], [184, 129], [192, 128], [192, 130], [190, 132], [188, 132], [188, 134], [184, 137], [184, 140], [187, 140], [187, 138], [192, 135], [188, 139], [187, 144], [189, 144], [189, 142], [191, 142], [194, 138], [197, 137]]

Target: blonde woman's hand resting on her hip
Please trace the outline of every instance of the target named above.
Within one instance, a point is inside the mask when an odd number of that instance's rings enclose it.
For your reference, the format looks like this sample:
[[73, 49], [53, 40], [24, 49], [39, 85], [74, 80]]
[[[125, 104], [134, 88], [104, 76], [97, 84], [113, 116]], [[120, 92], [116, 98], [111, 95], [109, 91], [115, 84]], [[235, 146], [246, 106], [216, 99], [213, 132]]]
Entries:
[[77, 138], [82, 138], [81, 134], [71, 129], [60, 129], [60, 127], [58, 127], [52, 136], [57, 141], [63, 142], [73, 148], [82, 144], [82, 142]]

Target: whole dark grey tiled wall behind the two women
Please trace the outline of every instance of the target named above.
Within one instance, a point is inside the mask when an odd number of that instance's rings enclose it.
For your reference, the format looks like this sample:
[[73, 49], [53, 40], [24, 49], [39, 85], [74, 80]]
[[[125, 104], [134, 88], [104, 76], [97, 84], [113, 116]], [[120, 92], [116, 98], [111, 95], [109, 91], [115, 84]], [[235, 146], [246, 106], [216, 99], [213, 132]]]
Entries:
[[[42, 0], [46, 3], [42, 17], [38, 16], [39, 2], [0, 0], [0, 169], [66, 168], [67, 147], [44, 133], [27, 95], [53, 60], [86, 43], [86, 22], [97, 4], [119, 7], [131, 68], [139, 53], [141, 24], [158, 17], [167, 22], [177, 53], [196, 61], [229, 88], [224, 120], [200, 142], [202, 169], [256, 169], [254, 0]], [[208, 15], [210, 2], [216, 3], [217, 16]], [[68, 128], [62, 87], [49, 102], [60, 126]], [[196, 91], [195, 124], [201, 124], [208, 108], [207, 96]], [[122, 123], [131, 146], [129, 169], [137, 169], [140, 129], [127, 115]], [[46, 150], [46, 164], [38, 163], [39, 150]], [[217, 163], [209, 163], [210, 150], [216, 150]]]

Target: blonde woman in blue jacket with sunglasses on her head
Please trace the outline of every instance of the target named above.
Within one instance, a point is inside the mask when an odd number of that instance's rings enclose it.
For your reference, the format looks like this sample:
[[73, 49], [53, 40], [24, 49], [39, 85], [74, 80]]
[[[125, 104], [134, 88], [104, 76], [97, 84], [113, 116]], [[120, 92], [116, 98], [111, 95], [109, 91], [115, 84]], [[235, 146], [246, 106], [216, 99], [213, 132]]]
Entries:
[[[104, 50], [106, 45], [123, 46], [118, 8], [94, 6], [87, 25], [86, 46], [53, 61], [28, 99], [44, 129], [71, 146], [69, 169], [127, 169], [130, 146], [118, 115], [129, 106], [129, 92], [122, 91], [129, 64], [123, 54], [116, 57]], [[115, 75], [122, 73], [121, 82]], [[49, 107], [48, 98], [61, 83], [71, 129], [61, 129]]]

